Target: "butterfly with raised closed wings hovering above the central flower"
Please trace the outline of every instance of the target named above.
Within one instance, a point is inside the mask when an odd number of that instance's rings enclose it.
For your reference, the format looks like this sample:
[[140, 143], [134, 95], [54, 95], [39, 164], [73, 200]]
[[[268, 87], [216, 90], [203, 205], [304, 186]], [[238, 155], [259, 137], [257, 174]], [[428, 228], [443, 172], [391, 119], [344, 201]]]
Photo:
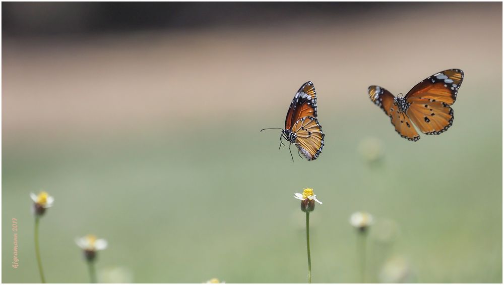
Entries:
[[282, 130], [280, 147], [283, 145], [282, 138], [289, 142], [292, 162], [291, 144], [297, 147], [299, 156], [303, 155], [308, 161], [319, 157], [324, 147], [324, 133], [317, 121], [317, 92], [311, 81], [304, 83], [292, 99], [285, 118], [285, 128], [268, 128], [261, 132], [270, 129]]

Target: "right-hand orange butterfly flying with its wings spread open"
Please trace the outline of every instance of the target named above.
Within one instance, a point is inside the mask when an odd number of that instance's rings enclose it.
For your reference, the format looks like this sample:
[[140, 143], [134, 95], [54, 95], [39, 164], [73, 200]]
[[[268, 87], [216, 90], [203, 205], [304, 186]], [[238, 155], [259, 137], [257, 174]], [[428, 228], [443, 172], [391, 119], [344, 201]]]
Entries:
[[369, 86], [369, 98], [390, 117], [396, 132], [410, 141], [420, 136], [413, 124], [426, 135], [439, 135], [453, 124], [453, 109], [457, 92], [464, 79], [460, 69], [438, 72], [421, 81], [404, 97], [394, 97], [380, 86]]

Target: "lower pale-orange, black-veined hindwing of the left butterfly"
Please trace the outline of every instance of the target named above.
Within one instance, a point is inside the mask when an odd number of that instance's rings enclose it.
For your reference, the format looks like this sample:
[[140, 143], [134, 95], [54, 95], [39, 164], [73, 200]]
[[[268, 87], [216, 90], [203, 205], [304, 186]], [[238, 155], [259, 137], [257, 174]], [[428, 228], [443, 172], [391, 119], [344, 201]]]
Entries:
[[307, 160], [315, 160], [324, 148], [324, 132], [313, 117], [304, 117], [294, 123], [292, 131], [296, 134], [296, 146]]

